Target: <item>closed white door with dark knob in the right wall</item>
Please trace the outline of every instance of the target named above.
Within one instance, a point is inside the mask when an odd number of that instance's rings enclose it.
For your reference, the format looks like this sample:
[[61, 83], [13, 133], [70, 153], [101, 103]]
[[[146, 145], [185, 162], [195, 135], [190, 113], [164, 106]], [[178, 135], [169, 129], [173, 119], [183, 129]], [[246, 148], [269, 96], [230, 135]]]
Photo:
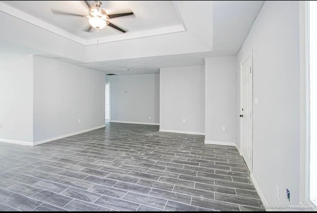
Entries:
[[252, 171], [253, 154], [253, 63], [252, 52], [241, 65], [241, 154]]

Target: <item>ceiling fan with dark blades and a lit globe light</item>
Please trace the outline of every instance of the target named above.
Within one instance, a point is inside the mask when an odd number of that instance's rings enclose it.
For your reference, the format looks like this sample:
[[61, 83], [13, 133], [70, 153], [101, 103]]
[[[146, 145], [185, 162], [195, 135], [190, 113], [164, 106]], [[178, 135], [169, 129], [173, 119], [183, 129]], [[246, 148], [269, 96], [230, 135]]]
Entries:
[[133, 12], [126, 12], [126, 13], [116, 13], [116, 14], [107, 14], [104, 9], [101, 8], [102, 2], [100, 0], [94, 0], [95, 7], [91, 7], [89, 3], [85, 0], [86, 5], [88, 7], [89, 15], [79, 15], [74, 13], [67, 13], [62, 11], [53, 10], [52, 12], [54, 14], [61, 14], [61, 15], [73, 15], [73, 16], [81, 16], [88, 18], [88, 22], [90, 24], [89, 28], [84, 30], [86, 32], [89, 32], [92, 27], [96, 29], [103, 29], [107, 25], [109, 27], [112, 27], [116, 30], [121, 31], [122, 33], [125, 33], [126, 31], [119, 28], [118, 26], [112, 24], [109, 19], [111, 18], [117, 18], [121, 16], [127, 16], [127, 15], [133, 15]]

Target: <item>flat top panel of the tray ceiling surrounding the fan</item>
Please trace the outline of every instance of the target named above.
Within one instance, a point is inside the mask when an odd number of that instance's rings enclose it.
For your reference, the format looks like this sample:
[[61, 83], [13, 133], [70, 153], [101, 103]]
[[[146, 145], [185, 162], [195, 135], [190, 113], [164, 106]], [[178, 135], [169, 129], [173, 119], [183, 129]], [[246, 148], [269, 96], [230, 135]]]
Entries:
[[[76, 37], [84, 40], [92, 40], [97, 38], [97, 29], [93, 28], [90, 32], [83, 30], [90, 25], [87, 17], [70, 16], [70, 15], [56, 15], [53, 10], [88, 15], [88, 8], [85, 1], [82, 0], [5, 0], [1, 1], [15, 9], [18, 9], [28, 15], [38, 18], [48, 24], [58, 27]], [[91, 6], [94, 6], [93, 1], [87, 1]], [[161, 34], [161, 29], [168, 29], [170, 32], [175, 32], [175, 29], [180, 31], [182, 20], [179, 17], [172, 1], [102, 1], [102, 6], [107, 14], [123, 13], [133, 11], [133, 15], [123, 16], [111, 19], [111, 23], [127, 31], [125, 36], [122, 36], [120, 31], [117, 31], [109, 26], [99, 30], [99, 38], [114, 37], [121, 35], [121, 39], [129, 39], [128, 34], [134, 35], [134, 38], [149, 36], [146, 32], [155, 32]], [[28, 21], [28, 20], [25, 20]], [[175, 27], [175, 29], [173, 29]], [[158, 30], [159, 29], [159, 30]], [[165, 33], [169, 33], [169, 32]], [[135, 36], [137, 35], [137, 36]], [[113, 39], [111, 39], [113, 41]]]

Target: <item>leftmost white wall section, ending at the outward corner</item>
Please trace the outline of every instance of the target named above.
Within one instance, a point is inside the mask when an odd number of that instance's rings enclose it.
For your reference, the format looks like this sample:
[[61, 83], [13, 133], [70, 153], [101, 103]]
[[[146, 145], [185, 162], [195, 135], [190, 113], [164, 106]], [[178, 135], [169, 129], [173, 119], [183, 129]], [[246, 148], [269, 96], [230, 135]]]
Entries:
[[[33, 141], [33, 58], [0, 58], [0, 141]], [[22, 143], [23, 143], [22, 142]]]

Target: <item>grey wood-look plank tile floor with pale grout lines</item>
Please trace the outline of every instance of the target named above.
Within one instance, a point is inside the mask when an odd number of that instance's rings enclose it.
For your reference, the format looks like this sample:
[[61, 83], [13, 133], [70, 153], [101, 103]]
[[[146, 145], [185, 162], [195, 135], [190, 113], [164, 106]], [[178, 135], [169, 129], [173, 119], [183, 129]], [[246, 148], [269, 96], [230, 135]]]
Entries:
[[34, 147], [0, 143], [0, 211], [264, 211], [235, 147], [107, 123]]

